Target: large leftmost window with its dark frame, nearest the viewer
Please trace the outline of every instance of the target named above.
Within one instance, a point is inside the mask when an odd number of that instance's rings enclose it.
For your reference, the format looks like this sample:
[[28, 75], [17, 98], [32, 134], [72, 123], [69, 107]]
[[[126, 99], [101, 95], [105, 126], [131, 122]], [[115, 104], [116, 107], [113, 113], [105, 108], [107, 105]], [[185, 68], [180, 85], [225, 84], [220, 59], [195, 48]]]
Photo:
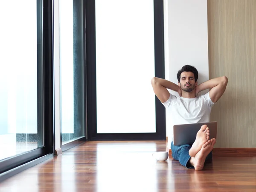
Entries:
[[0, 1], [0, 173], [53, 152], [50, 14], [47, 0]]

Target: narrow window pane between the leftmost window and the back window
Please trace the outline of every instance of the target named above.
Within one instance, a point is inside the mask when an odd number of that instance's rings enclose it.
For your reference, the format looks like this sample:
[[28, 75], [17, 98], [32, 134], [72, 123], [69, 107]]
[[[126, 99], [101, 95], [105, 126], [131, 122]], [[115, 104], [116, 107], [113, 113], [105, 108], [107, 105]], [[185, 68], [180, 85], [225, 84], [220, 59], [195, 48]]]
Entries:
[[84, 137], [83, 1], [60, 0], [62, 145]]

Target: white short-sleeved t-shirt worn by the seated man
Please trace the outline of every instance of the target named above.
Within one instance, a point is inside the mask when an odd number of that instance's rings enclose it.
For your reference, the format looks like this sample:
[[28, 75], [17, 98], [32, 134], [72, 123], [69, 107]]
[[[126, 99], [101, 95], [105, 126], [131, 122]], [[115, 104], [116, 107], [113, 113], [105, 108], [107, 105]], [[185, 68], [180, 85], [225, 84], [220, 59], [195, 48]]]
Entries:
[[[195, 98], [183, 98], [170, 94], [169, 99], [163, 103], [171, 118], [171, 128], [168, 132], [173, 140], [173, 125], [209, 122], [210, 113], [214, 103], [209, 92]], [[169, 142], [168, 142], [169, 143]]]

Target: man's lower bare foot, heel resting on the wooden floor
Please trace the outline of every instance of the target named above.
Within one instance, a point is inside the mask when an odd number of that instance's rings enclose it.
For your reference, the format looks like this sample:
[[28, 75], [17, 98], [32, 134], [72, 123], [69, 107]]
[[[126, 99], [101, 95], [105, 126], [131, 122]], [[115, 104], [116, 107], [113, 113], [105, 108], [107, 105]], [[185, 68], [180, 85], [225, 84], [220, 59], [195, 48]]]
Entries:
[[207, 141], [201, 148], [201, 150], [195, 155], [195, 157], [191, 157], [190, 163], [195, 167], [195, 170], [200, 171], [204, 168], [204, 162], [207, 155], [212, 151], [213, 146], [216, 143], [216, 139], [213, 138]]

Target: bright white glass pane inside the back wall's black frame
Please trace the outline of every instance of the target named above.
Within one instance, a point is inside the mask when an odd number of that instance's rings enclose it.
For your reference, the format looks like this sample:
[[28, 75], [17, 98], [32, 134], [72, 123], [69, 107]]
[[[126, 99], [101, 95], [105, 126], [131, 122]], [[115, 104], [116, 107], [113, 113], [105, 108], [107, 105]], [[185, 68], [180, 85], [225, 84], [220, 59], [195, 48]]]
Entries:
[[155, 133], [154, 1], [95, 3], [97, 133]]

